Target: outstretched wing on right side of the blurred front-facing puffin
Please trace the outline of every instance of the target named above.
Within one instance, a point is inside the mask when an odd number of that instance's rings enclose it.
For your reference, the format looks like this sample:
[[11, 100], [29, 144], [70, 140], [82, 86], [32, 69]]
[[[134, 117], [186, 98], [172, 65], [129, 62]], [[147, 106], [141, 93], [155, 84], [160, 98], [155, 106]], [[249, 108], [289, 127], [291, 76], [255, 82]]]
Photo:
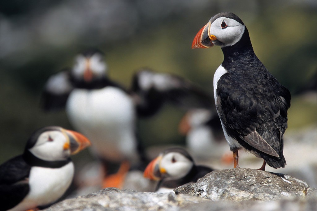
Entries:
[[131, 92], [135, 96], [138, 117], [151, 117], [165, 103], [190, 109], [213, 109], [213, 97], [197, 84], [171, 73], [141, 68], [133, 76]]

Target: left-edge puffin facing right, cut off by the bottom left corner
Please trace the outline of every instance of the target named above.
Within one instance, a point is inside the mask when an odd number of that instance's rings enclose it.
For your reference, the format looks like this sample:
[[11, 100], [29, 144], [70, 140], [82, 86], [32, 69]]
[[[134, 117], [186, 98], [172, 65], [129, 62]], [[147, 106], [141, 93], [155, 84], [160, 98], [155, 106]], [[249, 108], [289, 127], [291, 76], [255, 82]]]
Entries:
[[81, 133], [49, 126], [29, 137], [22, 155], [0, 165], [0, 210], [24, 211], [57, 201], [74, 177], [74, 155], [90, 145]]

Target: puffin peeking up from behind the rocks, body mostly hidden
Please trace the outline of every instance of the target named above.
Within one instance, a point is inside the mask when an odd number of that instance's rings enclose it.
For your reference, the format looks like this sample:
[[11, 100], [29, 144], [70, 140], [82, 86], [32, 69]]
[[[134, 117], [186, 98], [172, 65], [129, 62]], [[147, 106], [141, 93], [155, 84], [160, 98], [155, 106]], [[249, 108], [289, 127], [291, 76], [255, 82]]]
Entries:
[[143, 176], [158, 181], [154, 192], [171, 192], [172, 189], [213, 171], [212, 168], [196, 165], [191, 155], [183, 148], [172, 147], [164, 150], [146, 167]]

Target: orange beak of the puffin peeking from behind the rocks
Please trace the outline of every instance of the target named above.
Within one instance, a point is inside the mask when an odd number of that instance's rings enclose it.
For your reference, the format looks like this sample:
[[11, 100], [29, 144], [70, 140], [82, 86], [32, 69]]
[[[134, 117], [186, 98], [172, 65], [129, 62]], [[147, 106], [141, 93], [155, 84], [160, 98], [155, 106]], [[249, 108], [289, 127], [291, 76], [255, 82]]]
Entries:
[[163, 178], [163, 174], [166, 173], [166, 170], [159, 167], [159, 163], [162, 160], [162, 155], [152, 160], [147, 166], [143, 173], [143, 177], [146, 177], [150, 180], [159, 181]]

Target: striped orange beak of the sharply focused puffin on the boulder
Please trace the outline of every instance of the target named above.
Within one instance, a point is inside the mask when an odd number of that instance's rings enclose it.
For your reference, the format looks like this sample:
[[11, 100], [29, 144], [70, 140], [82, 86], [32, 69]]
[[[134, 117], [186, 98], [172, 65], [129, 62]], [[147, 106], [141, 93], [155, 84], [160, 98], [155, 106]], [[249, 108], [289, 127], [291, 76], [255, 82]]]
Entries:
[[214, 35], [210, 35], [210, 25], [211, 23], [208, 22], [202, 29], [199, 30], [193, 40], [193, 43], [191, 44], [192, 49], [209, 48], [214, 45], [211, 40], [215, 39], [216, 37]]

